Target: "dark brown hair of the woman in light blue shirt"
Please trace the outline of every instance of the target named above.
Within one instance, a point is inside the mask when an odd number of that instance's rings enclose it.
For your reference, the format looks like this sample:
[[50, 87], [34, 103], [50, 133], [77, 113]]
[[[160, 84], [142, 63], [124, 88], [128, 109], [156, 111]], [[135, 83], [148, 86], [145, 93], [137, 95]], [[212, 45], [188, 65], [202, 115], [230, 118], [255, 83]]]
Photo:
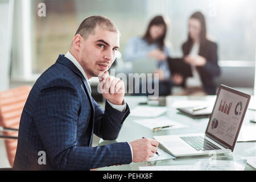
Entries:
[[[163, 25], [164, 26], [164, 32], [163, 35], [160, 36], [157, 40], [153, 40], [150, 35], [150, 28], [151, 26], [156, 25]], [[146, 34], [144, 34], [143, 39], [146, 40], [148, 44], [156, 43], [158, 44], [158, 47], [163, 50], [164, 47], [164, 39], [166, 38], [166, 32], [167, 32], [167, 23], [164, 20], [163, 16], [158, 15], [155, 16], [153, 19], [151, 19], [150, 23], [148, 24]]]

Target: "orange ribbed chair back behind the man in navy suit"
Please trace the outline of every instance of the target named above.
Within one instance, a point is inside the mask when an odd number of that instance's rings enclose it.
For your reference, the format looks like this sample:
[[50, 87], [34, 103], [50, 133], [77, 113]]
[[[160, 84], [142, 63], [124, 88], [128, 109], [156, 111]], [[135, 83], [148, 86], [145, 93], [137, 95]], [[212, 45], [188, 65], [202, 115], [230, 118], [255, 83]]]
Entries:
[[16, 154], [20, 116], [30, 90], [31, 86], [24, 85], [0, 93], [0, 138], [5, 139], [6, 154], [11, 167]]

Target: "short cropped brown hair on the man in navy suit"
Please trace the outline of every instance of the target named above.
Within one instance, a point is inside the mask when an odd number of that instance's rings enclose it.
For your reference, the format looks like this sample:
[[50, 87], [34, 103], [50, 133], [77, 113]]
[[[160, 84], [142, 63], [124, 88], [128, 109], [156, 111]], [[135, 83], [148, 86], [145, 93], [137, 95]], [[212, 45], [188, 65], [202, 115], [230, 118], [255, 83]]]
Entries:
[[90, 16], [84, 19], [77, 29], [75, 35], [80, 34], [82, 38], [87, 39], [89, 35], [94, 34], [94, 30], [97, 25], [108, 31], [117, 32], [120, 35], [117, 26], [115, 26], [112, 20], [106, 18], [105, 16]]

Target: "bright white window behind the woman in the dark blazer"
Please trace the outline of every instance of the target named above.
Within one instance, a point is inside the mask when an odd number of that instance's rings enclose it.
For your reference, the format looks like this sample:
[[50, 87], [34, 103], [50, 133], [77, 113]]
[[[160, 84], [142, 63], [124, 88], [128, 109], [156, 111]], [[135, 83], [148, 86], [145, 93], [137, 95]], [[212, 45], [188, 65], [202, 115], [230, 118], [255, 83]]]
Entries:
[[199, 10], [208, 35], [218, 43], [220, 60], [255, 60], [256, 1], [173, 0], [171, 5], [170, 40], [178, 55], [187, 39], [189, 16]]

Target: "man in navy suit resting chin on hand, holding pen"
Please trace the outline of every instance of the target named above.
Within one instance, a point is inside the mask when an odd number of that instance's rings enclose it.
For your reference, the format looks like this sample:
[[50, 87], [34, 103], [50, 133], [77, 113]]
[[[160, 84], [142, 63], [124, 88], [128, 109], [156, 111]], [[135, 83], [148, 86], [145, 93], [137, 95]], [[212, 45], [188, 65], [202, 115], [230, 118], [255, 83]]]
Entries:
[[[158, 142], [151, 139], [92, 147], [93, 133], [117, 139], [130, 113], [123, 81], [108, 73], [118, 48], [119, 31], [108, 18], [90, 16], [80, 24], [66, 55], [31, 89], [20, 119], [14, 169], [88, 170], [154, 156]], [[97, 76], [105, 111], [90, 96], [90, 78]]]

